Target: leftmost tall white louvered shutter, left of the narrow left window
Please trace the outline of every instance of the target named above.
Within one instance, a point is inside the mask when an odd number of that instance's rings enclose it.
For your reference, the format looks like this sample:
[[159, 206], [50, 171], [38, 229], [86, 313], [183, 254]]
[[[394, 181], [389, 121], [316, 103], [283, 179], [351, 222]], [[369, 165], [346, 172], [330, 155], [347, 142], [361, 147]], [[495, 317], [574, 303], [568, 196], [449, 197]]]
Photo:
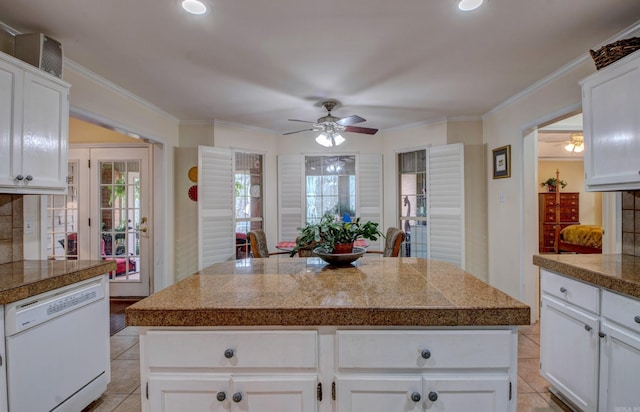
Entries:
[[198, 146], [198, 267], [235, 258], [234, 179], [229, 149]]

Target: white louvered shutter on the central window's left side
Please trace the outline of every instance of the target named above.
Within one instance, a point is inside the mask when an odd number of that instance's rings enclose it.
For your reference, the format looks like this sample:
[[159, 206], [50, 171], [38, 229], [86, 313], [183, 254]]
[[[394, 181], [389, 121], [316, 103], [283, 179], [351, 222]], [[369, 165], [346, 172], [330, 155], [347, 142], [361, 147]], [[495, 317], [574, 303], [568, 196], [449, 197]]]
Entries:
[[304, 226], [304, 157], [278, 156], [278, 240], [294, 241]]

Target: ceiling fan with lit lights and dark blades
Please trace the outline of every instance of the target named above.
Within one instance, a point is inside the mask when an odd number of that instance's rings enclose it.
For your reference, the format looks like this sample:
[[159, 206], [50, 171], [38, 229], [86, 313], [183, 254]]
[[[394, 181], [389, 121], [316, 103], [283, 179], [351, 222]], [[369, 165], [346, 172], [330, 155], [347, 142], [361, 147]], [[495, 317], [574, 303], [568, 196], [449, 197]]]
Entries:
[[318, 137], [316, 137], [316, 142], [319, 144], [331, 147], [338, 146], [344, 143], [345, 139], [340, 135], [340, 132], [351, 132], [351, 133], [364, 133], [364, 134], [376, 134], [378, 129], [372, 129], [369, 127], [360, 127], [353, 126], [356, 123], [362, 123], [366, 121], [360, 116], [348, 116], [343, 117], [342, 119], [336, 116], [331, 115], [331, 110], [333, 110], [338, 105], [337, 100], [325, 100], [322, 102], [322, 107], [327, 110], [327, 115], [320, 117], [317, 121], [311, 122], [307, 120], [297, 120], [297, 119], [289, 119], [290, 122], [302, 122], [302, 123], [310, 123], [313, 126], [309, 129], [296, 130], [294, 132], [283, 133], [283, 135], [314, 131], [320, 132]]

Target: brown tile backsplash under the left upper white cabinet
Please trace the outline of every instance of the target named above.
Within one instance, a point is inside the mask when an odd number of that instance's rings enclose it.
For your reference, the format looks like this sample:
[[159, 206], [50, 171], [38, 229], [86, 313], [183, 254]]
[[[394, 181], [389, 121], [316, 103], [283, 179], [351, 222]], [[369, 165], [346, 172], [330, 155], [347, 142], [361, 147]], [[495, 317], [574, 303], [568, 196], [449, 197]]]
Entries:
[[0, 194], [0, 264], [23, 260], [22, 195]]

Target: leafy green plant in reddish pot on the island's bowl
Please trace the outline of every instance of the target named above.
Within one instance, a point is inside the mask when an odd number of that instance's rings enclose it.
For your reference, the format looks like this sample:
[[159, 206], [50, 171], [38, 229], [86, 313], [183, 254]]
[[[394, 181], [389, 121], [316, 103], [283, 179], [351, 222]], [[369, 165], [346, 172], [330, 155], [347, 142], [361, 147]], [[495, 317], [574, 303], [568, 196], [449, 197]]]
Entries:
[[321, 247], [331, 253], [351, 253], [353, 242], [357, 239], [378, 240], [383, 236], [375, 222], [362, 223], [360, 218], [351, 222], [337, 220], [331, 213], [326, 213], [317, 224], [307, 223], [298, 228], [300, 235], [296, 239], [296, 245], [291, 251], [291, 256], [300, 249], [313, 249]]

